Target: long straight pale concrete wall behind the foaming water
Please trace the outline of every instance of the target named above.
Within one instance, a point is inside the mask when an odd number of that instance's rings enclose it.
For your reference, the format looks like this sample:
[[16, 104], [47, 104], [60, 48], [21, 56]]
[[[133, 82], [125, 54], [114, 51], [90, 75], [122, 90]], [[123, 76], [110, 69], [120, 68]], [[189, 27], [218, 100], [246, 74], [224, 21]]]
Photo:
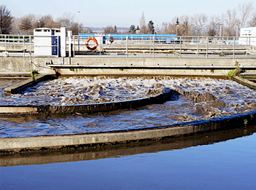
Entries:
[[[40, 74], [169, 74], [226, 76], [237, 66], [254, 71], [254, 59], [198, 58], [31, 58]], [[46, 64], [46, 63], [53, 63]], [[61, 65], [64, 63], [64, 67]], [[69, 65], [70, 64], [70, 65]], [[38, 67], [39, 66], [39, 67]], [[50, 68], [52, 66], [53, 68]], [[71, 66], [71, 67], [70, 67]], [[84, 67], [84, 68], [83, 68]], [[0, 57], [0, 72], [28, 72], [30, 58]]]

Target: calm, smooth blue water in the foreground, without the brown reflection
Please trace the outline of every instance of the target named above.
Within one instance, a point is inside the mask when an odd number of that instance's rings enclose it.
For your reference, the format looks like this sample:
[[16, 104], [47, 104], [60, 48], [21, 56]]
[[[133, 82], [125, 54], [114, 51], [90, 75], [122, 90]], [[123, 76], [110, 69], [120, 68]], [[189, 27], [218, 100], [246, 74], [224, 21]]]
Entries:
[[186, 149], [0, 167], [0, 189], [256, 189], [255, 142], [253, 133]]

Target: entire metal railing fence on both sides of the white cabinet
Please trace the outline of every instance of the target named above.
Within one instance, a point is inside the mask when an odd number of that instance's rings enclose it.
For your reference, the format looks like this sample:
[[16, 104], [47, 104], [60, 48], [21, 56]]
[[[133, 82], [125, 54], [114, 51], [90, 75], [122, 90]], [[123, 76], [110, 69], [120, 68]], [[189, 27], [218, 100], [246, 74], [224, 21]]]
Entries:
[[[57, 39], [57, 36], [40, 37]], [[89, 41], [90, 37], [96, 40]], [[57, 40], [40, 46], [34, 39], [37, 36], [0, 35], [0, 56], [38, 57], [42, 55], [35, 54], [36, 48], [53, 50], [60, 44]], [[256, 58], [256, 37], [251, 36], [87, 34], [67, 37], [66, 41], [69, 57]], [[49, 57], [59, 55], [58, 51], [58, 55]]]

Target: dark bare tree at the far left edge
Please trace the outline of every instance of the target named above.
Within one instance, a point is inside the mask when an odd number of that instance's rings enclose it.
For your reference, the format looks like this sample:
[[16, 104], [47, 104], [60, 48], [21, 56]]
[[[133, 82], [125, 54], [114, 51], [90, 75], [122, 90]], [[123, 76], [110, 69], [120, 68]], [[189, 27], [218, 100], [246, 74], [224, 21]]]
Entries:
[[0, 6], [0, 34], [10, 33], [12, 28], [12, 16], [5, 5]]

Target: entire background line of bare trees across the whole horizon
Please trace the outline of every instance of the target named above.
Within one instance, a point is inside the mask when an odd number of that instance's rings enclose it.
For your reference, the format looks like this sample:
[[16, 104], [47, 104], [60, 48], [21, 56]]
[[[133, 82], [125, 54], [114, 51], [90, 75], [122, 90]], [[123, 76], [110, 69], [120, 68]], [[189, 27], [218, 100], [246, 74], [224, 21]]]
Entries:
[[[33, 34], [34, 28], [60, 28], [67, 27], [78, 33], [92, 33], [91, 28], [83, 27], [82, 23], [75, 22], [75, 16], [64, 12], [61, 17], [53, 20], [52, 15], [25, 15], [12, 17], [6, 6], [0, 6], [0, 33]], [[222, 15], [208, 17], [205, 13], [195, 15], [181, 15], [173, 17], [170, 22], [163, 22], [155, 28], [152, 20], [146, 25], [144, 12], [140, 17], [140, 25], [131, 25], [128, 33], [159, 33], [177, 34], [178, 36], [236, 36], [240, 28], [256, 27], [256, 12], [253, 3], [239, 4], [234, 9], [227, 9]], [[107, 26], [105, 33], [118, 33], [116, 25]]]

